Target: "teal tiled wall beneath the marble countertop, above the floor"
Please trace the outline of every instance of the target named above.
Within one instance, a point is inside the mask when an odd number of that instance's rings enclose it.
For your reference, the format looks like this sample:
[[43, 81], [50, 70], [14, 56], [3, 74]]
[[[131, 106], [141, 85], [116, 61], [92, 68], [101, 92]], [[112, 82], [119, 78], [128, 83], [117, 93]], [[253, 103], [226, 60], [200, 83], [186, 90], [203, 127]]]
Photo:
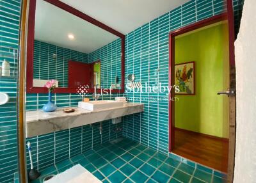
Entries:
[[[122, 132], [114, 132], [116, 127], [122, 127], [122, 123], [113, 125], [111, 120], [102, 122], [102, 134], [99, 132], [99, 123], [84, 125], [67, 129], [65, 131], [53, 132], [42, 136], [27, 138], [31, 143], [33, 165], [37, 170], [59, 163], [86, 150], [122, 137]], [[29, 154], [27, 150], [27, 167], [30, 169]]]

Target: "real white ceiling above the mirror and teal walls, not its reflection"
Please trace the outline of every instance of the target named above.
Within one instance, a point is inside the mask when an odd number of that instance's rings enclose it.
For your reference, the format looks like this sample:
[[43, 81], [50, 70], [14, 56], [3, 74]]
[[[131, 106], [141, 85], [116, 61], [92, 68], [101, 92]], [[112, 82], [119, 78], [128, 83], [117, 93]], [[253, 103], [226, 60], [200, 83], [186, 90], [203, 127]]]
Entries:
[[60, 0], [126, 35], [189, 0]]

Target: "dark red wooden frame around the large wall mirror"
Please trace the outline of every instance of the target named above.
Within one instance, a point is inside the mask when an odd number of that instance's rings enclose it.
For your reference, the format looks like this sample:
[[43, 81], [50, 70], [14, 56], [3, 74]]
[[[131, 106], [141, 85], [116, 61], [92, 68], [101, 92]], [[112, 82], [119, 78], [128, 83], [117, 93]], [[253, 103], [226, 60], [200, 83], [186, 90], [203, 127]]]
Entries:
[[[102, 22], [99, 22], [98, 20], [93, 19], [92, 17], [84, 14], [83, 12], [80, 12], [79, 10], [76, 10], [72, 6], [69, 6], [65, 3], [62, 3], [58, 0], [44, 0], [48, 3], [53, 4], [54, 6], [57, 6], [61, 8], [62, 10], [65, 10], [69, 13], [72, 13], [73, 15], [76, 15], [77, 17], [86, 20], [95, 26], [98, 26], [99, 28], [102, 28], [106, 31], [109, 31], [109, 33], [112, 33], [113, 35], [116, 35], [120, 37], [121, 39], [121, 89], [113, 89], [111, 90], [111, 93], [124, 93], [124, 72], [125, 72], [125, 35], [122, 33], [116, 31], [115, 29], [110, 28], [106, 24], [103, 24]], [[34, 52], [34, 37], [35, 37], [35, 13], [36, 13], [36, 0], [30, 0], [29, 1], [29, 17], [28, 17], [28, 38], [27, 38], [27, 83], [26, 83], [26, 92], [27, 93], [48, 93], [47, 88], [43, 87], [34, 87], [33, 86], [33, 52]], [[89, 89], [90, 93], [94, 92], [93, 88]], [[97, 89], [97, 92], [100, 92], [100, 89]], [[109, 90], [108, 90], [109, 92]], [[56, 88], [54, 90], [54, 93], [76, 93], [76, 88]]]

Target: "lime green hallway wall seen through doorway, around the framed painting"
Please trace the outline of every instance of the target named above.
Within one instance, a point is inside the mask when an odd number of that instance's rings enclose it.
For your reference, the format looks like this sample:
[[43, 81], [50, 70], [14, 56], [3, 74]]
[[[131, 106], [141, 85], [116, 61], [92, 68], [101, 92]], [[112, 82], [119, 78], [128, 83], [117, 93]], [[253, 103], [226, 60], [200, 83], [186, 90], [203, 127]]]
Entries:
[[226, 24], [175, 40], [175, 63], [195, 61], [196, 95], [176, 95], [175, 127], [228, 137], [228, 36]]

